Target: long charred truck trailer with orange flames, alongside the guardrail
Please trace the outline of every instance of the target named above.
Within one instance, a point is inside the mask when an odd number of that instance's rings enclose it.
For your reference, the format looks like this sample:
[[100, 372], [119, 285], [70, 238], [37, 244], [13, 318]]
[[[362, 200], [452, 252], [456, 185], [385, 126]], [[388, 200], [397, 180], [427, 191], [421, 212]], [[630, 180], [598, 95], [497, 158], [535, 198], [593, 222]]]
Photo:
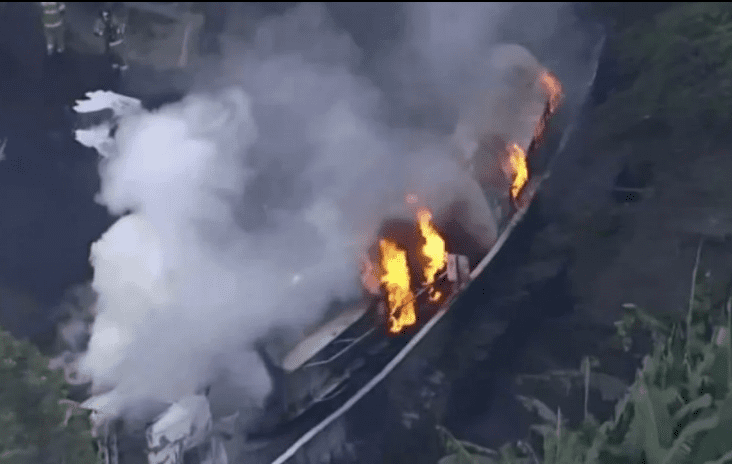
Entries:
[[[492, 205], [495, 236], [486, 243], [464, 230], [454, 210], [433, 213], [416, 195], [407, 195], [413, 219], [384, 221], [376, 243], [363, 256], [364, 297], [334, 304], [333, 317], [289, 350], [282, 350], [282, 340], [262, 341], [258, 351], [275, 387], [268, 415], [250, 437], [283, 433], [313, 409], [334, 408], [320, 405], [360, 398], [370, 388], [364, 384], [383, 378], [485, 269], [543, 180], [530, 172], [529, 160], [538, 152], [563, 95], [550, 71], [534, 79], [530, 85], [539, 89], [543, 101], [531, 121], [528, 142], [506, 143], [492, 134], [466, 163]], [[501, 160], [499, 169], [505, 176], [500, 182], [495, 179], [495, 159]]]

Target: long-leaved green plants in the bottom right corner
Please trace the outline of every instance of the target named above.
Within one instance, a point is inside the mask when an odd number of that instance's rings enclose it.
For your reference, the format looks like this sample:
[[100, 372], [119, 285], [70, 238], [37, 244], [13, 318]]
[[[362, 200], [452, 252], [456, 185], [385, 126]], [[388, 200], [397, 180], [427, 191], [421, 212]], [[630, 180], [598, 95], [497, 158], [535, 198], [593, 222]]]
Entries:
[[[613, 377], [592, 372], [599, 364], [590, 358], [578, 371], [547, 376], [584, 385], [579, 426], [568, 426], [561, 411], [540, 400], [521, 397], [540, 418], [529, 439], [493, 451], [440, 429], [448, 453], [440, 464], [732, 463], [732, 295], [720, 301], [705, 277], [698, 280], [683, 321], [624, 307], [616, 324], [619, 346], [630, 352], [644, 336], [652, 344], [627, 389]], [[594, 388], [605, 397], [625, 390], [614, 417], [603, 423], [588, 410]]]

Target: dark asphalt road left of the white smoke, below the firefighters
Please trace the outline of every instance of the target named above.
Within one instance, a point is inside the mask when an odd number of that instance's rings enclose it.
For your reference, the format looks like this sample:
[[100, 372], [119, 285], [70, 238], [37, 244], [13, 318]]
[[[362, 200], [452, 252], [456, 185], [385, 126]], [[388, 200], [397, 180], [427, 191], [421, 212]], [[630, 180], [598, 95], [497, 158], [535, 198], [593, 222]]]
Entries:
[[69, 8], [66, 52], [50, 58], [34, 4], [6, 3], [0, 14], [0, 326], [43, 348], [53, 338], [52, 309], [91, 277], [89, 246], [113, 222], [94, 202], [98, 157], [73, 139], [70, 106], [98, 89], [158, 106], [189, 84], [182, 71], [142, 63], [116, 76], [79, 5]]

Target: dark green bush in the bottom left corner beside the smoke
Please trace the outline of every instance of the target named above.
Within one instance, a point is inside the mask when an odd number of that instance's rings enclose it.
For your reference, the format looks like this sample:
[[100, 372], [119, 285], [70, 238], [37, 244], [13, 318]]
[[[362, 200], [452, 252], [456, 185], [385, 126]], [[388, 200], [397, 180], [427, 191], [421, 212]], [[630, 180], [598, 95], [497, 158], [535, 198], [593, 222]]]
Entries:
[[0, 330], [0, 464], [95, 464], [88, 416], [67, 416], [63, 374]]

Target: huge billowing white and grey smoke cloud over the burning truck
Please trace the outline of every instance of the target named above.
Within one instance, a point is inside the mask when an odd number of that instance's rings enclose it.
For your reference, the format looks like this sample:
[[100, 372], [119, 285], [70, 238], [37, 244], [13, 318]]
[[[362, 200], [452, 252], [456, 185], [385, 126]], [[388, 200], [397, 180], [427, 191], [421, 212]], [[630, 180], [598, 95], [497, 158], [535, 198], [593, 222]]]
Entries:
[[413, 214], [407, 193], [436, 211], [467, 201], [466, 227], [495, 235], [460, 158], [488, 132], [526, 134], [535, 95], [514, 84], [540, 66], [492, 46], [504, 4], [404, 8], [403, 40], [364, 63], [323, 5], [299, 5], [260, 21], [206, 89], [121, 121], [99, 201], [129, 214], [92, 246], [81, 363], [98, 406], [172, 402], [222, 378], [261, 403], [253, 342], [359, 296], [358, 259], [385, 217]]

